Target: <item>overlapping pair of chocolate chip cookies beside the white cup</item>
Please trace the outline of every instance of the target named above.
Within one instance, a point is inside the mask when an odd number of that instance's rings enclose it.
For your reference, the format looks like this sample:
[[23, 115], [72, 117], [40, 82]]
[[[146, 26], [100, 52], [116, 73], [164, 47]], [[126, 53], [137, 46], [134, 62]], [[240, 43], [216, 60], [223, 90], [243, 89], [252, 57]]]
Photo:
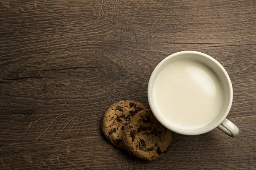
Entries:
[[149, 161], [163, 156], [172, 140], [171, 131], [157, 121], [151, 110], [131, 100], [108, 108], [102, 120], [102, 132], [113, 145]]

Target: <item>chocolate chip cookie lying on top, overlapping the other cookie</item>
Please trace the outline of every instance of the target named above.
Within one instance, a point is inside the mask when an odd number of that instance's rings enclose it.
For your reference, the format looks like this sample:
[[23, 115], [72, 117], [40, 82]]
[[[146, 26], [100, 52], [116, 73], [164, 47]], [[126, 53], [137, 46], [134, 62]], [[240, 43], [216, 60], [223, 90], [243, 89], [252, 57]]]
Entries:
[[157, 121], [151, 110], [140, 111], [123, 131], [123, 142], [133, 156], [153, 161], [169, 149], [172, 132]]

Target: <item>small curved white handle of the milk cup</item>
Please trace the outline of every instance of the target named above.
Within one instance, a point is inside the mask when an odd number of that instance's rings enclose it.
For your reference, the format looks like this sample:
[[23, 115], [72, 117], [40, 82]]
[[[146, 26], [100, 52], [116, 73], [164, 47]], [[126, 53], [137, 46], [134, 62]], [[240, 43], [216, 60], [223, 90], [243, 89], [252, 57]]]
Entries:
[[221, 125], [218, 125], [218, 128], [231, 137], [235, 137], [239, 133], [239, 128], [228, 119], [224, 119]]

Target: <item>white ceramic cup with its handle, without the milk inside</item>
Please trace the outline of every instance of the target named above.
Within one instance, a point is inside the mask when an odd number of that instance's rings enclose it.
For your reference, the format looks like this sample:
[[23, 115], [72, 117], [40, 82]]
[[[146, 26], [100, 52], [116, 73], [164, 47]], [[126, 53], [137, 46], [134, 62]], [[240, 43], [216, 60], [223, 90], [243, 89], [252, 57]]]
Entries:
[[[166, 120], [166, 118], [163, 116], [163, 114], [161, 114], [160, 111], [157, 109], [155, 100], [153, 99], [153, 88], [155, 85], [154, 82], [156, 81], [157, 75], [160, 73], [161, 69], [165, 67], [167, 63], [170, 63], [177, 59], [192, 59], [192, 60], [201, 62], [204, 65], [207, 65], [209, 68], [211, 68], [221, 81], [221, 85], [224, 91], [224, 100], [223, 100], [224, 102], [223, 102], [222, 110], [218, 114], [217, 118], [212, 120], [212, 122], [205, 124], [205, 126], [201, 127], [200, 129], [191, 128], [189, 130], [183, 130], [183, 129], [181, 130], [179, 127], [175, 126], [175, 124], [170, 124]], [[207, 133], [216, 127], [218, 127], [220, 130], [222, 130], [224, 133], [226, 133], [231, 137], [238, 135], [239, 133], [238, 127], [236, 127], [236, 125], [234, 125], [230, 120], [226, 119], [230, 111], [232, 101], [233, 101], [233, 88], [232, 88], [230, 77], [227, 74], [227, 71], [214, 58], [210, 57], [207, 54], [197, 52], [197, 51], [181, 51], [166, 57], [154, 69], [148, 82], [148, 102], [149, 102], [151, 111], [154, 113], [154, 116], [162, 125], [164, 125], [169, 130], [172, 130], [176, 133], [180, 133], [183, 135], [199, 135], [199, 134]]]

